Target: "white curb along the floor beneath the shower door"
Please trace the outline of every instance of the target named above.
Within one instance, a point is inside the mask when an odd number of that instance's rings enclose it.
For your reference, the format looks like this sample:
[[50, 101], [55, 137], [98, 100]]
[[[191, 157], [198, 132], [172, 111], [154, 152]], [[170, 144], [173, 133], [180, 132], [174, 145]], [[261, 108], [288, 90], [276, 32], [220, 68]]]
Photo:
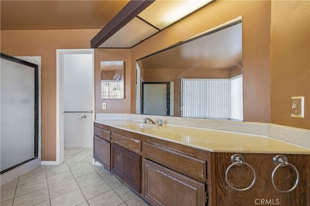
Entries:
[[41, 162], [41, 159], [37, 158], [35, 160], [31, 160], [30, 162], [26, 162], [25, 164], [20, 165], [13, 170], [1, 174], [1, 185], [14, 179], [15, 177], [21, 176], [22, 174], [36, 168], [41, 164]]

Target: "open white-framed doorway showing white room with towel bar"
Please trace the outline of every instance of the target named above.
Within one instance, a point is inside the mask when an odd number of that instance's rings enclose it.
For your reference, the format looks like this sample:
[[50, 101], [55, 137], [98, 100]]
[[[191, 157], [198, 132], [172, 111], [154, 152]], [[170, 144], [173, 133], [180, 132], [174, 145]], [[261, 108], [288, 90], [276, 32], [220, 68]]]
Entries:
[[56, 162], [64, 147], [93, 147], [94, 50], [57, 49]]

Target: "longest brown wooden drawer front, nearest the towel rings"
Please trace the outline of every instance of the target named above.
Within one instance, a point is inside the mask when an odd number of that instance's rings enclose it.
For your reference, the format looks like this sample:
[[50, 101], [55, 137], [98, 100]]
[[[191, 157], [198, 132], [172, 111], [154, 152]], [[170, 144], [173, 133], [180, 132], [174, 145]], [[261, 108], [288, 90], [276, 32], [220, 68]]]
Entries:
[[201, 182], [206, 179], [206, 161], [143, 142], [143, 156]]

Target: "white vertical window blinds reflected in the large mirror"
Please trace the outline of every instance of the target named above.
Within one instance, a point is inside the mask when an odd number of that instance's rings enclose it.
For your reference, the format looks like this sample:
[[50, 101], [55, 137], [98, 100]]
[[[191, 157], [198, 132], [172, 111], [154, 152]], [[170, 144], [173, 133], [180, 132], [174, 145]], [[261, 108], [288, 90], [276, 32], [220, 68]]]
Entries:
[[242, 75], [231, 79], [182, 79], [182, 117], [242, 120]]

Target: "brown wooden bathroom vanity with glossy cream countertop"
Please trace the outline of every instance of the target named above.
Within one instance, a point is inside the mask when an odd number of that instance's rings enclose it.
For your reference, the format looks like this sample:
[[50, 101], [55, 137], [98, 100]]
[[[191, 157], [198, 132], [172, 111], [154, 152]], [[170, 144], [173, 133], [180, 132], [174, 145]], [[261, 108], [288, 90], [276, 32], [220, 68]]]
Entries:
[[95, 120], [93, 156], [150, 205], [310, 205], [310, 150], [268, 137]]

